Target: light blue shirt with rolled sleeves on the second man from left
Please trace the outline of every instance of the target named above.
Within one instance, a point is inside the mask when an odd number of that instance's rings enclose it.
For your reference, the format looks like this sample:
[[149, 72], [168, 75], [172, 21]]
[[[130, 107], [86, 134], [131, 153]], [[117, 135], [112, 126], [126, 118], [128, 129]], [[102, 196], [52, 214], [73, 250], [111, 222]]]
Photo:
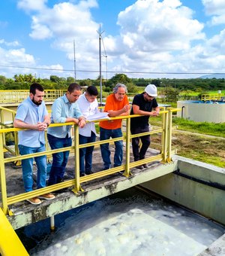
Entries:
[[[82, 115], [77, 102], [69, 102], [64, 95], [52, 104], [51, 123], [65, 123], [68, 117], [80, 118]], [[71, 137], [71, 125], [49, 127], [47, 133], [57, 138]]]

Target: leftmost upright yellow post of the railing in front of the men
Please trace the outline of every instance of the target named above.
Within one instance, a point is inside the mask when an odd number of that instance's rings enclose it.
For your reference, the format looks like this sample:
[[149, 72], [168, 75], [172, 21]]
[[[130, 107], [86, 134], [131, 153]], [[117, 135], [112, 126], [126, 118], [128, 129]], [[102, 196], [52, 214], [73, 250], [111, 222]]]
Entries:
[[4, 133], [0, 133], [0, 182], [1, 182], [1, 208], [6, 215], [7, 214], [7, 190], [6, 190], [6, 178], [5, 178], [4, 152], [3, 152], [3, 136], [4, 136]]

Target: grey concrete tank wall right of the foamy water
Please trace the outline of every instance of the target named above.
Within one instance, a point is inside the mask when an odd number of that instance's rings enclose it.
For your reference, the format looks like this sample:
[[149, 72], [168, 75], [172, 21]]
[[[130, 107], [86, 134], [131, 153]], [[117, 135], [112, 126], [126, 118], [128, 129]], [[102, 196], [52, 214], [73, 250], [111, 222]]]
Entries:
[[164, 175], [142, 187], [225, 224], [225, 170], [182, 157], [178, 160], [178, 172], [180, 175]]

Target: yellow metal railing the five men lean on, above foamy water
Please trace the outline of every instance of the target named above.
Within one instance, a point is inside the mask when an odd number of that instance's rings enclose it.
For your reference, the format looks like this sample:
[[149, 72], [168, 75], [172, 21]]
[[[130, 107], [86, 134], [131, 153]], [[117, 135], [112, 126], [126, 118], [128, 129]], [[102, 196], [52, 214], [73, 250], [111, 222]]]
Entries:
[[[0, 182], [1, 182], [1, 209], [0, 209], [0, 236], [3, 237], [3, 233], [7, 233], [7, 240], [5, 238], [1, 241], [0, 239], [0, 253], [5, 255], [13, 255], [17, 251], [17, 255], [26, 255], [26, 249], [23, 247], [23, 245], [20, 242], [20, 239], [18, 239], [17, 235], [13, 233], [12, 227], [10, 226], [9, 222], [7, 222], [7, 218], [5, 215], [13, 215], [12, 212], [10, 212], [9, 206], [13, 203], [19, 203], [23, 200], [27, 200], [32, 197], [38, 197], [41, 194], [46, 194], [49, 192], [54, 192], [55, 190], [59, 190], [65, 187], [74, 187], [73, 191], [75, 194], [80, 194], [80, 192], [83, 191], [83, 188], [81, 187], [81, 184], [86, 181], [92, 181], [96, 178], [102, 178], [107, 175], [112, 175], [116, 172], [124, 171], [123, 175], [125, 177], [129, 177], [131, 175], [130, 169], [132, 169], [135, 166], [139, 166], [140, 164], [144, 163], [150, 163], [155, 160], [161, 161], [161, 163], [169, 163], [172, 160], [172, 154], [175, 154], [175, 151], [172, 151], [171, 144], [172, 144], [172, 112], [174, 111], [181, 111], [180, 108], [169, 108], [168, 110], [165, 110], [163, 108], [163, 111], [160, 111], [160, 114], [162, 114], [162, 126], [160, 129], [157, 130], [151, 130], [148, 133], [139, 133], [135, 135], [130, 134], [130, 118], [139, 117], [139, 115], [129, 115], [126, 117], [114, 117], [110, 118], [111, 120], [116, 119], [124, 119], [126, 121], [126, 130], [125, 135], [121, 136], [116, 139], [107, 139], [104, 141], [99, 142], [92, 142], [92, 143], [86, 143], [83, 145], [79, 145], [79, 127], [75, 125], [74, 123], [52, 123], [50, 126], [64, 126], [64, 125], [72, 125], [74, 126], [74, 145], [68, 148], [58, 148], [55, 150], [46, 150], [44, 152], [35, 153], [35, 154], [27, 154], [27, 155], [15, 155], [12, 154], [12, 157], [4, 157], [4, 146], [3, 146], [3, 138], [5, 136], [5, 133], [13, 132], [17, 133], [18, 131], [22, 129], [18, 128], [4, 128], [0, 130]], [[108, 120], [108, 119], [107, 119]], [[95, 123], [98, 123], [99, 120], [95, 120]], [[139, 137], [139, 136], [145, 136], [145, 135], [153, 135], [153, 134], [161, 134], [161, 150], [160, 153], [153, 156], [148, 157], [143, 160], [139, 160], [136, 162], [130, 163], [130, 139]], [[84, 177], [80, 177], [80, 158], [79, 158], [79, 149], [80, 148], [86, 148], [89, 146], [97, 146], [104, 143], [111, 143], [116, 142], [119, 140], [125, 140], [126, 142], [126, 159], [125, 164], [112, 168], [107, 169], [101, 172], [95, 172], [91, 175], [87, 175]], [[47, 143], [46, 143], [47, 144]], [[5, 175], [5, 163], [10, 162], [16, 162], [21, 161], [23, 159], [28, 159], [30, 157], [39, 157], [42, 155], [46, 155], [47, 157], [51, 157], [52, 154], [62, 151], [71, 151], [74, 153], [74, 175], [75, 178], [64, 181], [59, 184], [54, 184], [48, 187], [43, 187], [37, 190], [33, 190], [31, 192], [23, 193], [23, 194], [16, 194], [12, 197], [7, 197], [7, 185], [6, 185], [6, 175]], [[4, 227], [3, 227], [4, 225]], [[7, 227], [7, 230], [5, 228]], [[6, 234], [4, 234], [5, 237]], [[10, 240], [9, 240], [10, 239]], [[16, 242], [16, 246], [11, 246], [11, 243], [5, 242], [5, 241], [12, 241]], [[6, 251], [6, 252], [5, 252]]]

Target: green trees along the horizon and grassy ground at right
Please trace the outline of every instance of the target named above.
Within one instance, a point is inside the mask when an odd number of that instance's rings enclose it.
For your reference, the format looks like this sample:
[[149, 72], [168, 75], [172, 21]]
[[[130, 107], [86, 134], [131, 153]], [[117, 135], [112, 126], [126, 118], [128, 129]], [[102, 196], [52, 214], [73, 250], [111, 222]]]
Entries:
[[[13, 78], [5, 78], [0, 75], [0, 90], [28, 90], [31, 83], [38, 82], [45, 89], [67, 89], [68, 85], [74, 82], [74, 78], [60, 78], [57, 75], [51, 75], [49, 79], [40, 79], [35, 76], [14, 75]], [[99, 88], [100, 78], [77, 80], [82, 87], [95, 85]], [[192, 78], [192, 79], [151, 79], [151, 78], [128, 78], [124, 74], [115, 74], [108, 80], [102, 78], [103, 97], [106, 97], [113, 90], [117, 83], [127, 85], [128, 96], [136, 93], [142, 93], [147, 84], [155, 84], [158, 94], [157, 102], [169, 104], [176, 107], [178, 99], [200, 99], [202, 94], [225, 93], [224, 78]], [[159, 126], [161, 117], [151, 118], [151, 125]], [[216, 166], [225, 167], [225, 123], [206, 123], [184, 120], [174, 117], [173, 126], [178, 126], [178, 130], [189, 133], [178, 133], [174, 131], [176, 139], [172, 140], [172, 145], [178, 148], [178, 154], [183, 157], [189, 157], [193, 160], [200, 160], [205, 163], [211, 163]], [[190, 135], [190, 133], [192, 133]], [[199, 135], [199, 134], [202, 135]], [[203, 135], [223, 137], [221, 139], [210, 138]], [[154, 140], [154, 137], [152, 138]]]

